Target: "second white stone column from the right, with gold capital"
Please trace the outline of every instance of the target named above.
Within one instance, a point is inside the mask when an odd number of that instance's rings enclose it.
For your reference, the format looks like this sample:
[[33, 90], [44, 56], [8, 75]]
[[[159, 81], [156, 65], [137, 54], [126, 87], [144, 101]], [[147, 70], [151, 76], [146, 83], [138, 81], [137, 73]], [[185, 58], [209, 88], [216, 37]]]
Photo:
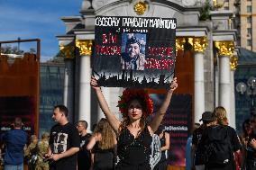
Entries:
[[233, 41], [215, 41], [219, 55], [219, 106], [227, 112], [227, 119], [231, 121], [231, 77], [230, 56], [233, 54]]

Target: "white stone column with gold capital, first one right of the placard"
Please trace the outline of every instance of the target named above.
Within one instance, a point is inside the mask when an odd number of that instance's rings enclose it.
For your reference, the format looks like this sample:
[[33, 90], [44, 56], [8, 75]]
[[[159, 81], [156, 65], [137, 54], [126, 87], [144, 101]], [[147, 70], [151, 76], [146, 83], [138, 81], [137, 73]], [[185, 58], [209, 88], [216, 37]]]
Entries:
[[202, 113], [205, 112], [205, 76], [204, 76], [204, 51], [206, 49], [206, 37], [196, 37], [194, 40], [195, 50], [195, 122], [199, 122]]

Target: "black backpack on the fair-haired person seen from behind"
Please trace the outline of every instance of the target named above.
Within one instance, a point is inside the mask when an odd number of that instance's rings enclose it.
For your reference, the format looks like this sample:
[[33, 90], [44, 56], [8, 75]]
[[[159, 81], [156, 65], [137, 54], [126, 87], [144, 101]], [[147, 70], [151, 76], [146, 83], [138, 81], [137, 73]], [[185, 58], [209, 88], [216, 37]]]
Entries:
[[227, 126], [209, 127], [206, 139], [206, 166], [224, 166], [233, 160]]

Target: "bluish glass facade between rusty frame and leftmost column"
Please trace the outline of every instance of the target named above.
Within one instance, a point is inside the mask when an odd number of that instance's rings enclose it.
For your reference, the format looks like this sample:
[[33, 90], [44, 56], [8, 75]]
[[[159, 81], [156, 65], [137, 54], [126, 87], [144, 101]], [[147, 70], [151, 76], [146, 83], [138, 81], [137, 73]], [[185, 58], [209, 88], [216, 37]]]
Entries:
[[64, 69], [63, 61], [40, 64], [39, 137], [43, 132], [50, 132], [55, 124], [51, 119], [53, 106], [63, 103]]

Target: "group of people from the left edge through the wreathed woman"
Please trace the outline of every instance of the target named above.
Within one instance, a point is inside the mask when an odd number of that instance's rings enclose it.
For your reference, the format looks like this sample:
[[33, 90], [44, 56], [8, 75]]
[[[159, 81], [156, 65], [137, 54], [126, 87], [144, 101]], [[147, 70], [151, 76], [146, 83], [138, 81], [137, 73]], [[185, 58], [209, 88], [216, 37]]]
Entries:
[[167, 169], [164, 159], [169, 134], [159, 126], [178, 87], [177, 78], [169, 85], [152, 121], [146, 118], [152, 114], [153, 103], [143, 89], [123, 91], [118, 104], [123, 120], [119, 121], [110, 111], [95, 77], [91, 78], [91, 86], [105, 113], [92, 134], [87, 133], [87, 121], [78, 121], [77, 126], [69, 122], [69, 110], [64, 105], [54, 106], [52, 119], [56, 124], [50, 133], [42, 134], [41, 140], [32, 135], [28, 142], [22, 119], [15, 118], [14, 129], [1, 135], [4, 169], [23, 170], [24, 162], [29, 170]]

